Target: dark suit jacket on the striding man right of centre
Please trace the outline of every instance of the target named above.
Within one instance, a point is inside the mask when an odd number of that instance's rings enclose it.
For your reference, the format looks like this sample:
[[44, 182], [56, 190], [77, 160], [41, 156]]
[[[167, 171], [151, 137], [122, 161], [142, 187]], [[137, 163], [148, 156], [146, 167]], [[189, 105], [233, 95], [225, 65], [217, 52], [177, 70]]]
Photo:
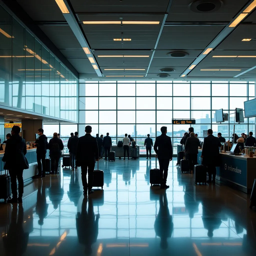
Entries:
[[173, 146], [169, 136], [162, 133], [156, 137], [154, 151], [158, 159], [170, 159], [173, 157]]

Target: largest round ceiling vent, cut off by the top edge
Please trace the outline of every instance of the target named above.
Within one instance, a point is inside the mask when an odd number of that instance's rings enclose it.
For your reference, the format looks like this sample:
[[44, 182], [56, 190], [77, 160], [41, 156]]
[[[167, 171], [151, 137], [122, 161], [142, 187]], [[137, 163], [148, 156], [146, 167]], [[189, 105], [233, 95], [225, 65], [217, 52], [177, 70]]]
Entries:
[[211, 13], [217, 11], [222, 5], [221, 0], [196, 0], [189, 7], [196, 13]]

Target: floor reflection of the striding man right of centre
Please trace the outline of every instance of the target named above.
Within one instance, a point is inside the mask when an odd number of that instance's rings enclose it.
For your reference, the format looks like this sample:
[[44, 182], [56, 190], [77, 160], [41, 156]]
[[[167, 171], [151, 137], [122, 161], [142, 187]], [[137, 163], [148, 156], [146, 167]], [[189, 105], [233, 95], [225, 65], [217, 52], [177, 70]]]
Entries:
[[168, 208], [168, 200], [166, 192], [159, 195], [159, 212], [156, 216], [154, 228], [156, 235], [161, 238], [160, 247], [162, 249], [168, 248], [167, 238], [172, 236], [173, 232], [173, 217], [170, 215]]

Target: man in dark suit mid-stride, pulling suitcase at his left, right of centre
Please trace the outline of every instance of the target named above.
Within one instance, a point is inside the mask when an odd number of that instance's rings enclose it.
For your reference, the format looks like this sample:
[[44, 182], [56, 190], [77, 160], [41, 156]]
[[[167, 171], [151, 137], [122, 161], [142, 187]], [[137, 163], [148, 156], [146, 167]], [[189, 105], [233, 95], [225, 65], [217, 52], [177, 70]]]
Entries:
[[169, 186], [166, 185], [166, 181], [169, 163], [173, 159], [173, 147], [171, 138], [166, 135], [167, 127], [161, 127], [161, 132], [162, 134], [156, 137], [154, 151], [156, 152], [156, 157], [158, 158], [161, 176], [160, 178], [162, 179], [160, 186], [161, 188], [169, 188]]

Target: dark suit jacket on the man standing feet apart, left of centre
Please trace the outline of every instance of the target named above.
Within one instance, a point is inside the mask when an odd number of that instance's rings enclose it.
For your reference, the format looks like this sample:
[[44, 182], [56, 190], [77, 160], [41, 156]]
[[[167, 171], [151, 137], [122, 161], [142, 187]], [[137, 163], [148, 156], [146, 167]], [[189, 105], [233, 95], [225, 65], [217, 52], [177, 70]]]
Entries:
[[87, 133], [78, 140], [76, 160], [77, 166], [84, 163], [95, 163], [95, 159], [99, 159], [99, 148], [97, 140]]

